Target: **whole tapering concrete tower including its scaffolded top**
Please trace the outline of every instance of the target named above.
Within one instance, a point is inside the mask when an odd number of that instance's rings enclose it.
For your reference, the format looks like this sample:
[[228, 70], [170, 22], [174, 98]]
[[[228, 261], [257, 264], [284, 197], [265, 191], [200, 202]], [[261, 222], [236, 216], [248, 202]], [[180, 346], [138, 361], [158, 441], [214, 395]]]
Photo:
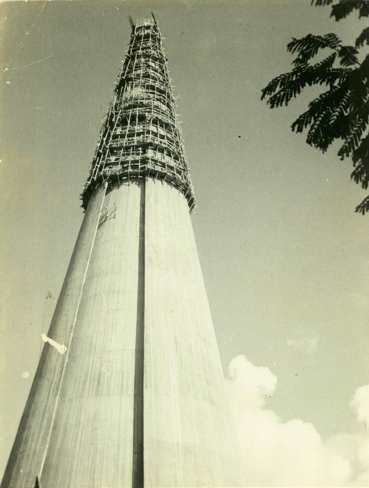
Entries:
[[131, 25], [1, 488], [245, 486], [160, 33]]

